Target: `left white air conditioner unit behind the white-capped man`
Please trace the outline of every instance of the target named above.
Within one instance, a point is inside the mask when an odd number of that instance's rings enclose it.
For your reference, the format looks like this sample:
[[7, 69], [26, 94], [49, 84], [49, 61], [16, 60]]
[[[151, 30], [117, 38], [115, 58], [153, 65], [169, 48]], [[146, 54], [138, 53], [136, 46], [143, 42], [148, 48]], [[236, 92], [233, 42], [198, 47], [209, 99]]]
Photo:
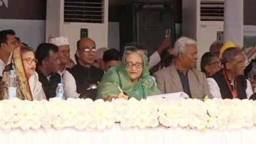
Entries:
[[68, 37], [72, 58], [81, 37], [108, 46], [108, 0], [47, 0], [46, 17], [46, 39]]

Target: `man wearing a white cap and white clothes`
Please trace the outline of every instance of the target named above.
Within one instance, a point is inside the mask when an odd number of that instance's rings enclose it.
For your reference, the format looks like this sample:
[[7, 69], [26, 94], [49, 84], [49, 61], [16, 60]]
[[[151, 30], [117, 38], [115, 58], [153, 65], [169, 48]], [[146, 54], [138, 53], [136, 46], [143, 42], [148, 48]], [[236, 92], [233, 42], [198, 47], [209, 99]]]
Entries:
[[58, 73], [64, 85], [64, 95], [66, 98], [78, 98], [75, 79], [73, 75], [66, 70], [66, 65], [70, 62], [70, 43], [67, 37], [54, 37], [50, 43], [58, 46]]

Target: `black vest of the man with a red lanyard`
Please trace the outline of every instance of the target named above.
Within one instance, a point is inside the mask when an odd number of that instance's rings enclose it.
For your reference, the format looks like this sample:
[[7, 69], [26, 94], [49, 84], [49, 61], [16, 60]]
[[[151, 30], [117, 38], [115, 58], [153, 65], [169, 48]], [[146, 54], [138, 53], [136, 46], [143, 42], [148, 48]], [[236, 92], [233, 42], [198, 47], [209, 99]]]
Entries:
[[[213, 78], [221, 91], [221, 98], [223, 99], [232, 99], [232, 93], [230, 92], [229, 88], [228, 88], [228, 84], [225, 81], [224, 75], [223, 75], [223, 70], [218, 71], [217, 73], [215, 73], [215, 75], [213, 75], [211, 78]], [[244, 75], [241, 75], [239, 77], [236, 77], [236, 90], [238, 93], [238, 98], [239, 99], [246, 99], [246, 88], [247, 88], [247, 81], [246, 78], [244, 77]]]

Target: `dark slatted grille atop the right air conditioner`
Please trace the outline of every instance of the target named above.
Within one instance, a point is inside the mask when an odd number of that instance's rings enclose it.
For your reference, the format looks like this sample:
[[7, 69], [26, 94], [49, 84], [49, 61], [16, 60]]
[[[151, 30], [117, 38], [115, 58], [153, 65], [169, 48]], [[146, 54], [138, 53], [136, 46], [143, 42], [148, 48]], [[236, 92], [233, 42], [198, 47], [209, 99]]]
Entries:
[[224, 1], [201, 1], [200, 20], [223, 21]]

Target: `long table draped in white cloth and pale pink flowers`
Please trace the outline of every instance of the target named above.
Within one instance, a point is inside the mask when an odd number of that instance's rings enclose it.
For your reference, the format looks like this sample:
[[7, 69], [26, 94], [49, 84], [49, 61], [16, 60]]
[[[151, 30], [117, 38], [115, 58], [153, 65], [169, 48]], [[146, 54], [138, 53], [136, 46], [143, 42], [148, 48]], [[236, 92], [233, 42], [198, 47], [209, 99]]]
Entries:
[[256, 143], [247, 99], [0, 101], [0, 144]]

